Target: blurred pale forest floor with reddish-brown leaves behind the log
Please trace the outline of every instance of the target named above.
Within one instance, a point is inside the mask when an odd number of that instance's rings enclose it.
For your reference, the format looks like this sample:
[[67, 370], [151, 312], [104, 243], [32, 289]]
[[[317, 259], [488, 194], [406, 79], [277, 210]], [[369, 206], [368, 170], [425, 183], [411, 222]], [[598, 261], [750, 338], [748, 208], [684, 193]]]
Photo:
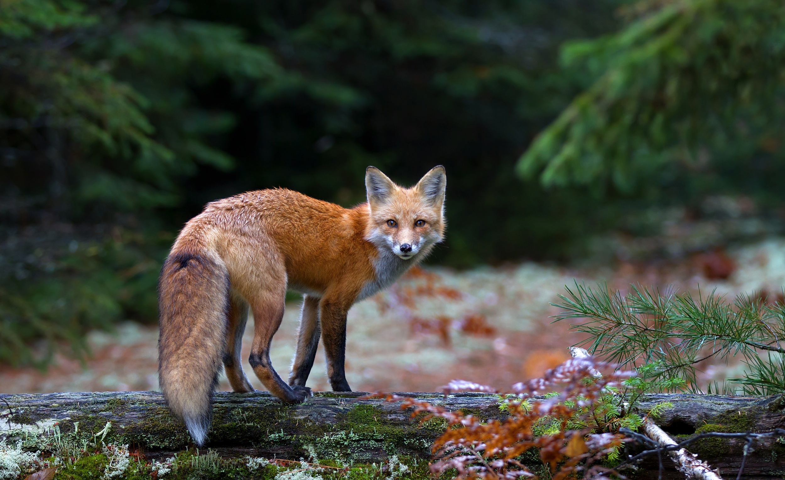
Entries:
[[[349, 312], [347, 379], [357, 391], [435, 391], [460, 378], [498, 388], [539, 376], [568, 358], [582, 338], [568, 322], [552, 323], [565, 285], [607, 282], [626, 292], [631, 283], [693, 294], [779, 294], [785, 285], [785, 240], [769, 239], [681, 260], [575, 268], [525, 263], [470, 271], [415, 269], [391, 289]], [[294, 355], [298, 303], [287, 304], [272, 343], [272, 362], [288, 375]], [[243, 340], [250, 353], [253, 320]], [[46, 373], [0, 366], [0, 393], [158, 389], [155, 326], [123, 323], [89, 334], [86, 362], [58, 356]], [[740, 373], [739, 365], [703, 365], [702, 380]], [[251, 383], [263, 389], [247, 361]], [[327, 390], [319, 347], [308, 385]], [[229, 390], [225, 376], [219, 390]]]

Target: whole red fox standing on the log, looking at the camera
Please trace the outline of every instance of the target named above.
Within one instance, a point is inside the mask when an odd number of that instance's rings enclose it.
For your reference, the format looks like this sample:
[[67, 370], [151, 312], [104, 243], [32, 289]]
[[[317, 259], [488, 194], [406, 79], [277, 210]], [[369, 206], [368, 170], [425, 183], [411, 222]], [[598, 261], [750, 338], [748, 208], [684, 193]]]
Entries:
[[[283, 402], [304, 402], [319, 336], [334, 391], [351, 391], [346, 314], [395, 282], [444, 238], [444, 167], [411, 188], [365, 172], [367, 203], [345, 209], [284, 188], [206, 205], [177, 236], [159, 281], [159, 379], [172, 412], [197, 445], [210, 428], [223, 362], [234, 391], [254, 391], [240, 364], [248, 311], [254, 373]], [[287, 289], [303, 293], [289, 384], [272, 368], [270, 342]]]

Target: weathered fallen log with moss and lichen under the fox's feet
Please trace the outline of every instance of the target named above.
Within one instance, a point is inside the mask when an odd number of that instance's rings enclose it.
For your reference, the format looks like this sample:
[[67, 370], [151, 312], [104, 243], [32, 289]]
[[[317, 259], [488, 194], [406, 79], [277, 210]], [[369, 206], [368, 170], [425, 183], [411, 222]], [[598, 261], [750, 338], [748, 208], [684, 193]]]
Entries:
[[[266, 456], [297, 460], [300, 457], [341, 458], [358, 462], [392, 455], [427, 458], [429, 446], [444, 431], [444, 421], [422, 423], [398, 403], [360, 399], [360, 392], [317, 392], [302, 405], [284, 405], [266, 392], [214, 396], [214, 419], [206, 448], [221, 456]], [[495, 395], [464, 393], [445, 398], [436, 393], [404, 393], [463, 409], [485, 419], [502, 419]], [[726, 397], [717, 395], [649, 395], [641, 403], [645, 413], [659, 402], [672, 402], [656, 419], [677, 441], [705, 431], [770, 431], [785, 427], [785, 400], [781, 397]], [[171, 414], [159, 392], [57, 393], [0, 395], [0, 437], [41, 435], [55, 425], [61, 434], [94, 435], [107, 423], [105, 442], [130, 444], [148, 458], [171, 456], [188, 449], [188, 432]], [[27, 432], [26, 434], [24, 432]], [[721, 475], [736, 475], [743, 440], [707, 438], [691, 451], [718, 468]], [[641, 464], [637, 478], [655, 478], [655, 458]], [[785, 441], [754, 445], [745, 478], [783, 478]], [[666, 478], [683, 478], [666, 464]]]

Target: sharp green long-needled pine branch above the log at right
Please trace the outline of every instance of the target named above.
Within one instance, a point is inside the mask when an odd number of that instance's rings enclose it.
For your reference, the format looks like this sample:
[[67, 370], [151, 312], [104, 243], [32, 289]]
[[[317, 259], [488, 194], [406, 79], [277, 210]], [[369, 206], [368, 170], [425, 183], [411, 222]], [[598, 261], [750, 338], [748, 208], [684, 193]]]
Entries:
[[689, 293], [631, 285], [623, 296], [607, 286], [596, 289], [575, 283], [560, 296], [564, 311], [556, 321], [583, 318], [572, 326], [589, 337], [579, 345], [620, 368], [637, 368], [644, 391], [702, 392], [696, 365], [706, 360], [739, 358], [744, 375], [728, 378], [707, 393], [772, 395], [785, 391], [785, 304], [765, 297], [739, 295], [729, 304], [711, 293], [697, 299]]

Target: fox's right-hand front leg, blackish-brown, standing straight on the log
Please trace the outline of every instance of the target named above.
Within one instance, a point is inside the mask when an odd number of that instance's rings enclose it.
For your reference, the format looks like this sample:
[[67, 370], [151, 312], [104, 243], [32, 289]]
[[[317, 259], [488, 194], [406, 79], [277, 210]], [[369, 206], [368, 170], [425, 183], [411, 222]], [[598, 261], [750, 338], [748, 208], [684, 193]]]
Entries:
[[325, 298], [319, 308], [324, 354], [327, 357], [327, 376], [333, 391], [352, 391], [352, 387], [346, 382], [344, 369], [346, 314], [350, 306]]

